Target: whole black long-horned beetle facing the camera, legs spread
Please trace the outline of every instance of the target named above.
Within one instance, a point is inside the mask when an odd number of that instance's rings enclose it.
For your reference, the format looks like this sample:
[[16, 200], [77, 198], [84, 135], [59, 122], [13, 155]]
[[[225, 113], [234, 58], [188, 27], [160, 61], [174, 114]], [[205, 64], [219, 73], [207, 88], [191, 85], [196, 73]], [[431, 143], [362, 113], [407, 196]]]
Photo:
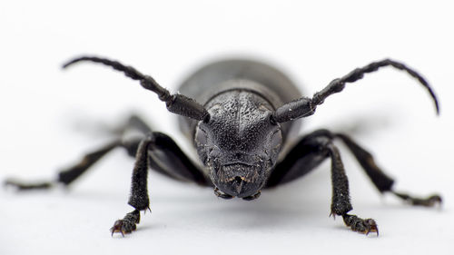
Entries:
[[326, 159], [331, 159], [331, 215], [341, 216], [353, 231], [376, 232], [378, 235], [376, 221], [349, 213], [353, 209], [349, 182], [335, 140], [347, 146], [381, 193], [390, 192], [413, 205], [429, 207], [441, 203], [437, 194], [417, 198], [394, 191], [394, 180], [377, 166], [370, 152], [344, 133], [321, 129], [302, 136], [294, 145], [290, 142], [301, 119], [314, 114], [331, 94], [340, 93], [346, 83], [355, 83], [364, 74], [385, 66], [415, 78], [429, 92], [439, 113], [439, 102], [429, 83], [400, 62], [384, 59], [356, 68], [332, 80], [312, 97], [303, 96], [297, 86], [275, 67], [245, 59], [207, 64], [183, 82], [179, 93], [173, 94], [156, 83], [153, 77], [107, 58], [81, 56], [64, 64], [64, 68], [80, 62], [111, 66], [139, 81], [144, 89], [156, 93], [159, 100], [166, 103], [169, 112], [179, 115], [180, 129], [192, 142], [200, 159], [200, 162], [192, 162], [171, 137], [163, 132], [153, 132], [141, 118], [132, 116], [123, 131], [138, 130], [142, 133], [140, 138], [117, 139], [86, 154], [81, 162], [59, 172], [57, 181], [5, 181], [18, 190], [50, 189], [55, 183], [69, 185], [107, 152], [117, 147], [126, 149], [135, 157], [128, 201], [134, 210], [114, 222], [112, 235], [136, 230], [140, 212], [149, 210], [148, 169], [176, 180], [212, 187], [215, 195], [222, 199], [237, 197], [252, 201], [259, 198], [262, 190], [298, 179]]

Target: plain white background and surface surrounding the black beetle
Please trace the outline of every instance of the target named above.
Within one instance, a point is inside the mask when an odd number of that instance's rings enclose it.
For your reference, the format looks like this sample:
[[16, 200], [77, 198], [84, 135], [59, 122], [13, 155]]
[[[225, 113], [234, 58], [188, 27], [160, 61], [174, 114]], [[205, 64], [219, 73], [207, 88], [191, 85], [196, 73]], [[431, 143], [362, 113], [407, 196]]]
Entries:
[[[153, 3], [154, 2], [154, 3]], [[315, 2], [315, 1], [312, 1]], [[330, 164], [257, 201], [223, 201], [210, 189], [149, 178], [153, 213], [132, 235], [110, 236], [126, 204], [133, 161], [117, 150], [70, 191], [0, 191], [0, 254], [449, 254], [454, 236], [452, 128], [454, 8], [449, 1], [3, 1], [0, 4], [0, 180], [54, 178], [109, 141], [103, 125], [141, 113], [185, 145], [153, 93], [80, 54], [132, 64], [175, 92], [197, 65], [224, 56], [276, 64], [311, 94], [354, 67], [392, 57], [423, 74], [439, 96], [384, 68], [333, 95], [301, 130], [348, 132], [398, 180], [437, 191], [441, 210], [380, 196], [341, 146], [353, 213], [374, 218], [362, 236], [329, 218]]]

